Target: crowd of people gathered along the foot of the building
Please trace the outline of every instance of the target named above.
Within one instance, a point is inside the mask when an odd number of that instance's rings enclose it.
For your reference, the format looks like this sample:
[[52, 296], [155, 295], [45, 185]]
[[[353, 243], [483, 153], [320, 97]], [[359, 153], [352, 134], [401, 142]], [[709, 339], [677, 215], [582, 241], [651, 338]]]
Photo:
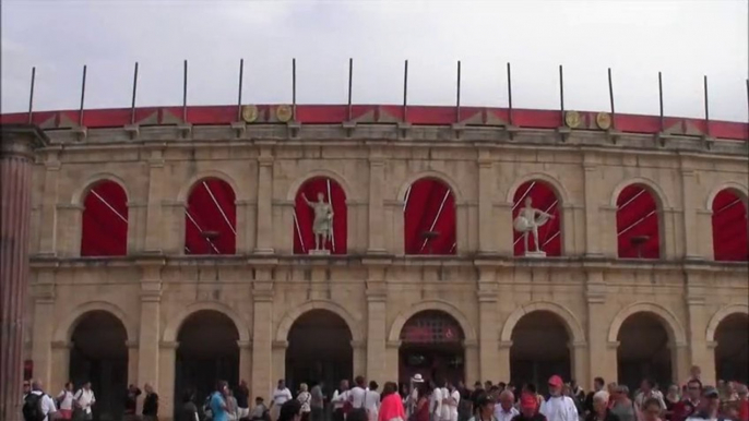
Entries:
[[[594, 380], [594, 389], [583, 390], [574, 381], [559, 375], [538, 387], [533, 383], [518, 385], [490, 381], [476, 382], [473, 388], [463, 382], [428, 380], [415, 374], [400, 385], [388, 382], [380, 389], [376, 381], [357, 376], [332, 388], [323, 382], [300, 383], [296, 393], [280, 380], [265, 397], [250, 402], [245, 381], [229, 388], [217, 381], [212, 393], [197, 397], [186, 388], [181, 405], [175, 408], [175, 421], [749, 421], [749, 389], [737, 382], [718, 381], [703, 385], [700, 369], [681, 385], [661, 386], [645, 378], [638, 390]], [[67, 383], [59, 394], [48, 393], [38, 381], [25, 382], [23, 419], [158, 421], [159, 400], [154, 388], [145, 384], [127, 389], [121, 417], [97, 418], [93, 408], [96, 396], [91, 382], [74, 389]], [[545, 390], [546, 394], [540, 392]], [[664, 392], [662, 392], [664, 390]]]

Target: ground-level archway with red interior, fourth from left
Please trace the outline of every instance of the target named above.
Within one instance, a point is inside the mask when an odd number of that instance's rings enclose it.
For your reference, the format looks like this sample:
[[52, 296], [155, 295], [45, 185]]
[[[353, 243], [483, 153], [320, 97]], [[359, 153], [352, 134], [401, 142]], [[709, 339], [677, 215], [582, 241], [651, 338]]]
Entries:
[[400, 339], [400, 382], [407, 382], [415, 374], [453, 384], [465, 380], [465, 333], [449, 313], [424, 310], [412, 315], [403, 325]]

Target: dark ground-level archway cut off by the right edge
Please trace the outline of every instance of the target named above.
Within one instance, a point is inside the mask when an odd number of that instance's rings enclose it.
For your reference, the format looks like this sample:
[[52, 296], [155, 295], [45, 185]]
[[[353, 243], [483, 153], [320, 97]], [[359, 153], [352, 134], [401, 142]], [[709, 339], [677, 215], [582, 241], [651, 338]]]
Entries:
[[715, 329], [715, 378], [749, 383], [749, 314], [732, 313]]

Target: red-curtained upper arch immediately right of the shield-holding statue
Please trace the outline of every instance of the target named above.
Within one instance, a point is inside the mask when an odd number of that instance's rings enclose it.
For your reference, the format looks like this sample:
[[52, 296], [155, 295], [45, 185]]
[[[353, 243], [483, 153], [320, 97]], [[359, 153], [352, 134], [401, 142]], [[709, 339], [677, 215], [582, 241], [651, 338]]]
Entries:
[[[659, 258], [661, 229], [655, 197], [639, 184], [625, 188], [617, 197], [617, 244], [622, 258]], [[644, 240], [640, 245], [638, 240]], [[638, 252], [640, 248], [640, 252]], [[640, 253], [640, 254], [638, 254]]]

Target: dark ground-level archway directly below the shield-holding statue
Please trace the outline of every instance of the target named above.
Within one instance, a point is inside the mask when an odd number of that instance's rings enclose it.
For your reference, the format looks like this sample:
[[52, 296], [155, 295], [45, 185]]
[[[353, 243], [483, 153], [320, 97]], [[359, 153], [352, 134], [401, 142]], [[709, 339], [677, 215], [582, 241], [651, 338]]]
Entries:
[[515, 384], [533, 383], [546, 390], [546, 380], [572, 375], [570, 327], [556, 313], [536, 310], [524, 314], [512, 329], [510, 377]]

